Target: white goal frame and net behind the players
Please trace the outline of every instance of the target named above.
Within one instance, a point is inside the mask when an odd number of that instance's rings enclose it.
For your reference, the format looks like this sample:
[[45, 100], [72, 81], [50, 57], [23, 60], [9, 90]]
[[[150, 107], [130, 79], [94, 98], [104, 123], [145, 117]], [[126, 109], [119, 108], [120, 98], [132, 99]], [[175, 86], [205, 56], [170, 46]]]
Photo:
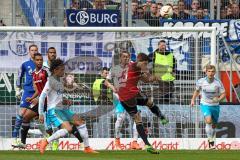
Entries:
[[[216, 33], [214, 28], [26, 28], [0, 29], [0, 136], [11, 137], [19, 100], [15, 98], [17, 70], [29, 59], [28, 47], [36, 44], [47, 60], [47, 49], [55, 47], [57, 57], [66, 62], [66, 73], [74, 75], [77, 90], [69, 96], [74, 100], [71, 109], [86, 118], [92, 138], [113, 138], [116, 121], [111, 100], [96, 103], [93, 82], [100, 77], [102, 67], [119, 62], [119, 53], [127, 50], [131, 60], [138, 53], [151, 55], [160, 40], [176, 59], [176, 80], [172, 97], [158, 94], [158, 85], [140, 83], [139, 87], [160, 107], [170, 123], [162, 126], [146, 107], [139, 106], [143, 123], [153, 138], [205, 137], [203, 117], [199, 107], [190, 107], [190, 100], [203, 67], [215, 64]], [[211, 55], [212, 53], [212, 55]], [[149, 64], [152, 70], [152, 63]], [[165, 93], [164, 93], [165, 94]], [[198, 103], [197, 103], [198, 104]], [[37, 128], [35, 121], [31, 125]], [[132, 137], [132, 120], [127, 117], [122, 126], [123, 138]]]

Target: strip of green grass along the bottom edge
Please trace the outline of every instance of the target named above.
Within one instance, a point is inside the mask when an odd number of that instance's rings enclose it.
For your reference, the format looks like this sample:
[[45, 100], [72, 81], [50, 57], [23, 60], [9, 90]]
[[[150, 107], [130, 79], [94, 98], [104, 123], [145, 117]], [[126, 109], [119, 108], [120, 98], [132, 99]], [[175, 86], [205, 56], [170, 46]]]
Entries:
[[0, 151], [0, 160], [239, 160], [240, 151], [161, 151], [150, 154], [146, 151], [100, 151], [85, 154], [82, 151]]

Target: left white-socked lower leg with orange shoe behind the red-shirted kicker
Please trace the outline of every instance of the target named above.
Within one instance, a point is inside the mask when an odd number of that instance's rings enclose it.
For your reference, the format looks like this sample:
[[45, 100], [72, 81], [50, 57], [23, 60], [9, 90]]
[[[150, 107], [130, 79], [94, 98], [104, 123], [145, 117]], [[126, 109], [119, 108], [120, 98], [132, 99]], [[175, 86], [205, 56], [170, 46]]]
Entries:
[[125, 112], [117, 113], [117, 120], [115, 122], [115, 149], [116, 150], [121, 150], [120, 130], [125, 117], [126, 117]]

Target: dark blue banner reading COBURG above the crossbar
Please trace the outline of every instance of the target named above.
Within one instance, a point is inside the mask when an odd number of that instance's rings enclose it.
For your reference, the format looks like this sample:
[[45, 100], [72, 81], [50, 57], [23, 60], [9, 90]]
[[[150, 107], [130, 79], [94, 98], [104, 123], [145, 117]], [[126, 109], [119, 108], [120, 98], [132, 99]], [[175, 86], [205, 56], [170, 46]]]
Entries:
[[120, 26], [120, 12], [119, 10], [73, 10], [67, 9], [67, 24], [75, 27], [116, 27]]

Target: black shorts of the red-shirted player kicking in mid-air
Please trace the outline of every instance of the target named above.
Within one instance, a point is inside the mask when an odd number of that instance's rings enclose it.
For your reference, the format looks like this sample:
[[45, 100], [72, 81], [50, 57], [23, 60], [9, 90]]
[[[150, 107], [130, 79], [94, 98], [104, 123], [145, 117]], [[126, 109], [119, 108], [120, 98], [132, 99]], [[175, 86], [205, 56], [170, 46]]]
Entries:
[[127, 101], [121, 101], [122, 106], [124, 109], [131, 115], [135, 115], [138, 112], [137, 105], [139, 106], [145, 106], [148, 102], [148, 97], [137, 94], [135, 97], [127, 100]]

